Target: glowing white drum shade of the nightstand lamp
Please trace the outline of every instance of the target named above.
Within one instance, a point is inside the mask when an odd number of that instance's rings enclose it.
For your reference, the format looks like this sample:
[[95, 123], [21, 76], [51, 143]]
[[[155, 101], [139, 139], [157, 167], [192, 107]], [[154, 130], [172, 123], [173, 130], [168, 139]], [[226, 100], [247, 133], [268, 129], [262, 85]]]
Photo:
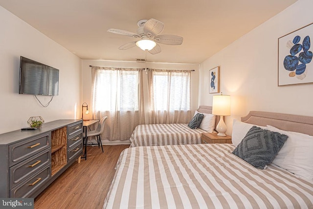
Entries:
[[230, 115], [230, 96], [229, 95], [214, 95], [212, 104], [213, 115]]

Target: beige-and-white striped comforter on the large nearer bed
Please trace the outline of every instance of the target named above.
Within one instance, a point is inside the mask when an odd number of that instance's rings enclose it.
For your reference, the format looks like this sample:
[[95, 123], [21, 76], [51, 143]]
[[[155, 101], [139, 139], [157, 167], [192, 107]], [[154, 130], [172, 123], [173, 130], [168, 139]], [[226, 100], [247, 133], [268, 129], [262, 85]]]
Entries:
[[257, 169], [232, 144], [125, 149], [104, 209], [306, 209], [313, 182], [269, 165]]

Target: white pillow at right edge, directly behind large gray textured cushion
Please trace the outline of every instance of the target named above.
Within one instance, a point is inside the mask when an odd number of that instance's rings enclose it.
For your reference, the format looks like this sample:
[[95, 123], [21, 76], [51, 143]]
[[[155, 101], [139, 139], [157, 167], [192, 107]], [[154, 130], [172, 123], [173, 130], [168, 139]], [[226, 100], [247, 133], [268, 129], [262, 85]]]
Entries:
[[267, 129], [288, 136], [272, 163], [297, 176], [313, 180], [313, 136], [280, 130], [270, 125]]

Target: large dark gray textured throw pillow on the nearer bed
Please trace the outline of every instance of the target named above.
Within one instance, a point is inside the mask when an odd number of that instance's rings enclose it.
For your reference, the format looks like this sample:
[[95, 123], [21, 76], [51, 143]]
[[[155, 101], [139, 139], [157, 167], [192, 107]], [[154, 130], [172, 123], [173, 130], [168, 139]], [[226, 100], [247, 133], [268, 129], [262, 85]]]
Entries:
[[265, 169], [287, 138], [284, 134], [252, 126], [232, 153], [256, 168]]

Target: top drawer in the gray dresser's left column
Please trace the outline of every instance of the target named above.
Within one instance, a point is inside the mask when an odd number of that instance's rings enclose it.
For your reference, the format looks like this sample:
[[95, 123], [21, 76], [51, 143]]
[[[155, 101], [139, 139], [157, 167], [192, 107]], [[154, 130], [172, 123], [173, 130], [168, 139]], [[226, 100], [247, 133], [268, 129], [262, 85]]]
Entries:
[[44, 133], [9, 146], [10, 167], [49, 148], [51, 146], [50, 132]]

